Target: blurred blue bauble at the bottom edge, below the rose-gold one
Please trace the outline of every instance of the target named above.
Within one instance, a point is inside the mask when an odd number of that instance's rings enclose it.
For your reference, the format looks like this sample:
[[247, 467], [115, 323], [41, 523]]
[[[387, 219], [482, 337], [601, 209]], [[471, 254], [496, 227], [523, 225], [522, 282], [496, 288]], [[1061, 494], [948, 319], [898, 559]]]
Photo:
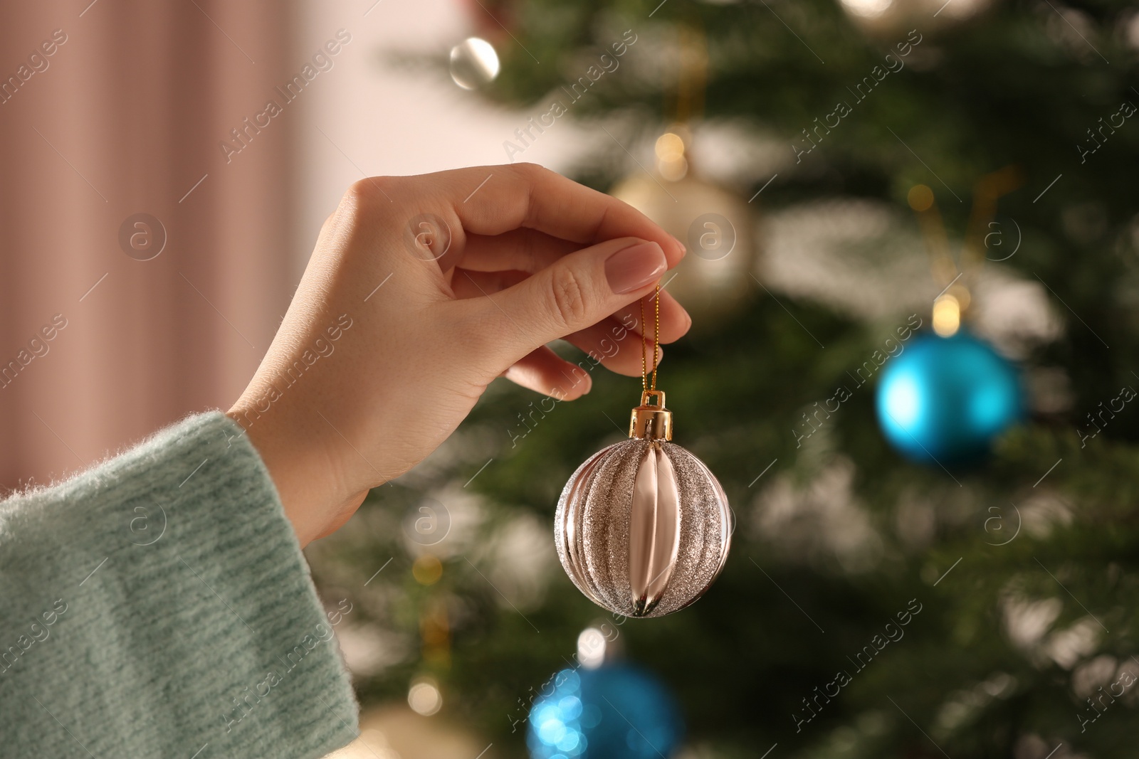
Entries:
[[665, 687], [616, 663], [555, 675], [530, 709], [526, 745], [533, 759], [661, 759], [682, 734]]

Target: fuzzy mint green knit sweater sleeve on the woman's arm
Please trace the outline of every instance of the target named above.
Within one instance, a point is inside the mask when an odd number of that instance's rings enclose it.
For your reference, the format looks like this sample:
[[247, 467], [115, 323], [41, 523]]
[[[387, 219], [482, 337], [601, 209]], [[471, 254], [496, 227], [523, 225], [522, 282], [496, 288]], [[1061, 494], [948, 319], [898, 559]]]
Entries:
[[269, 472], [220, 412], [0, 503], [0, 757], [320, 757], [359, 732]]

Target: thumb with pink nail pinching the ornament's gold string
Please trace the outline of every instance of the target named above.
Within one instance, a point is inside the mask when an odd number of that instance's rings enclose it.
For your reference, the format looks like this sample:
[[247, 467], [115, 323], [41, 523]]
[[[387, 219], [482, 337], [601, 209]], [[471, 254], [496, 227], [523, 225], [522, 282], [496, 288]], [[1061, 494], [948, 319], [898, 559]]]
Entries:
[[[563, 256], [554, 264], [493, 296], [484, 304], [509, 358], [596, 324], [647, 295], [667, 270], [656, 242], [639, 238], [606, 240]], [[493, 313], [491, 313], [493, 312]]]

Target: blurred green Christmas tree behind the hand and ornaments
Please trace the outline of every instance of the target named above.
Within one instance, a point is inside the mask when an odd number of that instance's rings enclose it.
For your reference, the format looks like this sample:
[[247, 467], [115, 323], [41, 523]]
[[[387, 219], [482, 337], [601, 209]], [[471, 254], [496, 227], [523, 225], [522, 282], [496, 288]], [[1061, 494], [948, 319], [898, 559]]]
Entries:
[[[445, 715], [526, 756], [531, 701], [606, 620], [679, 700], [688, 756], [1132, 756], [1139, 13], [534, 0], [473, 15], [502, 59], [482, 96], [546, 124], [509, 135], [513, 159], [551, 139], [547, 122], [600, 125], [574, 178], [608, 190], [654, 171], [678, 118], [696, 160], [702, 135], [735, 135], [744, 168], [724, 183], [743, 178], [729, 189], [754, 199], [754, 292], [670, 346], [661, 385], [736, 533], [698, 603], [609, 619], [557, 564], [551, 523], [575, 468], [625, 435], [638, 381], [595, 370], [573, 403], [497, 382], [443, 448], [309, 550], [372, 651], [362, 701], [429, 677]], [[941, 289], [911, 190], [932, 189], [956, 253], [978, 181], [1005, 167], [973, 297], [1021, 366], [1027, 415], [981, 462], [911, 463], [879, 429], [879, 377], [859, 371], [898, 361], [884, 346], [927, 329]], [[883, 226], [859, 232], [869, 218]], [[788, 274], [796, 256], [826, 263], [825, 245], [833, 265]], [[1026, 288], [1047, 313], [1000, 332]]]

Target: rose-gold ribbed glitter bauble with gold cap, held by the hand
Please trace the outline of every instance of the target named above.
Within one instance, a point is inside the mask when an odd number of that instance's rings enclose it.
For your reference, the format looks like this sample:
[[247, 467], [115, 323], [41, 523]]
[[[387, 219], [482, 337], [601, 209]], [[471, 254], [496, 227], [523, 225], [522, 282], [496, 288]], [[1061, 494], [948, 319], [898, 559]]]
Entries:
[[[658, 405], [648, 403], [654, 395]], [[566, 574], [625, 617], [683, 609], [728, 559], [728, 497], [704, 462], [671, 439], [664, 393], [645, 390], [629, 439], [579, 467], [558, 500], [555, 544]]]

